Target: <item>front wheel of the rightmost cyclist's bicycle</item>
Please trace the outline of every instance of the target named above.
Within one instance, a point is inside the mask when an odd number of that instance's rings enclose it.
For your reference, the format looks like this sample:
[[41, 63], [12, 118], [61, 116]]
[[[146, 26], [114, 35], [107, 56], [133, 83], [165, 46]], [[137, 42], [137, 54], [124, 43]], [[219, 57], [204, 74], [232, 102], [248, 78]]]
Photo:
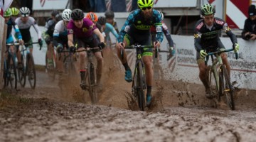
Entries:
[[221, 65], [222, 70], [222, 87], [223, 87], [223, 94], [225, 94], [226, 103], [228, 104], [228, 107], [230, 107], [231, 110], [235, 110], [235, 103], [233, 99], [233, 87], [230, 82], [230, 76], [228, 75], [228, 70], [225, 67], [225, 65]]

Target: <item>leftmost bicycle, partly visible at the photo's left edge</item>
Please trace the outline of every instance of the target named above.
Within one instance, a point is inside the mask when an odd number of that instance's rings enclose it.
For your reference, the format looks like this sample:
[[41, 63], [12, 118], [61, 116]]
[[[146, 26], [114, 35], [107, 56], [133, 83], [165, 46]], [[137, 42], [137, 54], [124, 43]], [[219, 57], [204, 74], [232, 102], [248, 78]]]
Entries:
[[17, 72], [16, 72], [16, 65], [15, 65], [15, 53], [12, 53], [9, 50], [11, 44], [6, 44], [8, 53], [7, 60], [4, 59], [4, 88], [6, 88], [9, 84], [11, 89], [17, 89]]

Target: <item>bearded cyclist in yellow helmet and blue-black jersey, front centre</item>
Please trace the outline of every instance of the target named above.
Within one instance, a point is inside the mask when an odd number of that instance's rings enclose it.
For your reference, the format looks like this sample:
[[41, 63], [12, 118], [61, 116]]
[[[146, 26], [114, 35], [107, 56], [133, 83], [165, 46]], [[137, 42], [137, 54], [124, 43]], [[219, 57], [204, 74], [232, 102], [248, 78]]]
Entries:
[[[125, 80], [132, 82], [132, 71], [127, 63], [127, 55], [124, 52], [124, 58], [121, 58], [121, 49], [126, 45], [138, 43], [140, 45], [151, 45], [151, 26], [156, 26], [156, 40], [154, 46], [159, 48], [163, 40], [163, 32], [161, 26], [161, 13], [153, 9], [153, 1], [138, 0], [139, 9], [132, 11], [125, 21], [118, 37], [117, 55], [125, 68]], [[142, 60], [145, 65], [146, 73], [146, 105], [151, 104], [151, 87], [153, 81], [152, 69], [152, 48], [144, 49]]]

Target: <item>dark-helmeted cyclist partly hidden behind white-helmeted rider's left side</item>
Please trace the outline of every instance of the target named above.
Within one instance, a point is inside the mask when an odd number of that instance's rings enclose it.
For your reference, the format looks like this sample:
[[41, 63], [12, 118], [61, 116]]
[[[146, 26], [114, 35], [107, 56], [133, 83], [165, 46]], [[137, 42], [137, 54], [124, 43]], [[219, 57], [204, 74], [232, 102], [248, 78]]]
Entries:
[[46, 26], [43, 31], [43, 39], [46, 41], [47, 44], [47, 51], [46, 51], [46, 69], [53, 67], [53, 57], [54, 54], [54, 47], [53, 47], [53, 31], [55, 24], [60, 21], [60, 14], [58, 11], [53, 10], [51, 12], [51, 17], [48, 18], [46, 21]]

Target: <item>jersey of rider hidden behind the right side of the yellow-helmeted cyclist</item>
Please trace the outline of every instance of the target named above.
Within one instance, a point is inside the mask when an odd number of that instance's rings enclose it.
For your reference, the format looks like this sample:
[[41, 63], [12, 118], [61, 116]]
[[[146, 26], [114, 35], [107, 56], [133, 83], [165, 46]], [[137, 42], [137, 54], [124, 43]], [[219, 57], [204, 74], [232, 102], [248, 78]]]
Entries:
[[[166, 39], [167, 39], [167, 41], [169, 43], [169, 46], [170, 47], [174, 47], [174, 40], [172, 40], [172, 38], [171, 38], [171, 34], [169, 32], [168, 27], [166, 26], [166, 24], [163, 21], [161, 23], [162, 23], [162, 30], [164, 32], [164, 35], [166, 36]], [[156, 27], [155, 26], [152, 27], [150, 29], [150, 31], [151, 31], [152, 41], [155, 41], [156, 40]]]

